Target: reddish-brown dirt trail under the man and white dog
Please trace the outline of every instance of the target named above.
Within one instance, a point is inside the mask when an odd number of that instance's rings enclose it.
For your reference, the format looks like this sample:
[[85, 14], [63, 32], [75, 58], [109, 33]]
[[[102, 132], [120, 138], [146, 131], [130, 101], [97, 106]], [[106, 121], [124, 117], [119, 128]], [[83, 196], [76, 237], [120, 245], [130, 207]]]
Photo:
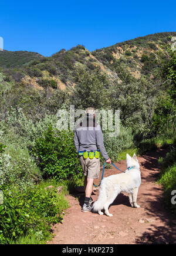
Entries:
[[[117, 196], [109, 211], [113, 217], [92, 212], [81, 212], [84, 193], [79, 200], [67, 196], [70, 208], [63, 224], [53, 227], [55, 237], [48, 244], [176, 244], [176, 218], [163, 208], [163, 189], [155, 183], [158, 176], [158, 157], [167, 150], [157, 150], [138, 157], [141, 170], [141, 186], [137, 203], [140, 208], [131, 208], [125, 193]], [[126, 170], [126, 161], [115, 163]], [[101, 168], [102, 171], [102, 168]], [[105, 169], [104, 176], [118, 173], [117, 169]], [[101, 173], [100, 173], [101, 178]], [[98, 184], [99, 180], [95, 180]], [[92, 198], [98, 198], [99, 190]]]

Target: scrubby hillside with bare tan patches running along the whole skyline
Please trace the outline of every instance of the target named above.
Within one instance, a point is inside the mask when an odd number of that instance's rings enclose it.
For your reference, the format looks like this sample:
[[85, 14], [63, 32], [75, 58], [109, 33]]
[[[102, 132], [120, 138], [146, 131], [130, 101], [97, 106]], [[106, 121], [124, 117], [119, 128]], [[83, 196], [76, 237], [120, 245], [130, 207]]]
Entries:
[[145, 76], [160, 81], [160, 66], [167, 61], [162, 45], [171, 44], [176, 32], [163, 32], [119, 42], [111, 47], [90, 52], [83, 45], [60, 50], [51, 57], [36, 52], [2, 51], [0, 67], [7, 79], [23, 81], [36, 88], [73, 87], [77, 68], [90, 73], [100, 68], [110, 84], [131, 83]]

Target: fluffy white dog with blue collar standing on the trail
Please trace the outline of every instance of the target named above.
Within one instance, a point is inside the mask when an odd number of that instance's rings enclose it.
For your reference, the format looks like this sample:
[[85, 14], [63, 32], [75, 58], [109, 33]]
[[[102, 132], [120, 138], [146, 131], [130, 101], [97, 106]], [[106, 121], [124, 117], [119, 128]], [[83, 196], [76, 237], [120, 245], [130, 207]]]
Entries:
[[128, 168], [126, 172], [111, 175], [101, 181], [99, 198], [93, 204], [94, 212], [99, 212], [100, 215], [103, 215], [101, 209], [104, 208], [107, 216], [113, 216], [109, 213], [108, 208], [120, 192], [128, 193], [132, 207], [140, 207], [137, 205], [137, 193], [141, 184], [140, 165], [138, 164], [136, 154], [133, 157], [127, 154], [126, 160]]

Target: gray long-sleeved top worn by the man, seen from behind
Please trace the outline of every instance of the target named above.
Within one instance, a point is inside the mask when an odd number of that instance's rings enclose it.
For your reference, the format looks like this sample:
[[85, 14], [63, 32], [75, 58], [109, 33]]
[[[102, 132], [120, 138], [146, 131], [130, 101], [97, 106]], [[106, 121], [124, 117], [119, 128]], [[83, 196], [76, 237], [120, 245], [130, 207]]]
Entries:
[[103, 133], [100, 124], [96, 123], [93, 116], [87, 114], [83, 121], [76, 126], [74, 135], [74, 144], [76, 151], [97, 150], [100, 149], [101, 156], [104, 160], [109, 159], [103, 143]]

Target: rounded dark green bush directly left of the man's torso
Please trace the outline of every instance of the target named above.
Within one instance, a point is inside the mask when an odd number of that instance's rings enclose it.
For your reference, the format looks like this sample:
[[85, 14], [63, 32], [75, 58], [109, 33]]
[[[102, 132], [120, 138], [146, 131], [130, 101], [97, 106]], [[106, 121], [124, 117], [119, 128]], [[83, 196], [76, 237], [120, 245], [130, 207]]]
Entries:
[[73, 136], [73, 132], [58, 132], [49, 125], [43, 137], [36, 139], [32, 155], [45, 178], [64, 180], [82, 176]]

